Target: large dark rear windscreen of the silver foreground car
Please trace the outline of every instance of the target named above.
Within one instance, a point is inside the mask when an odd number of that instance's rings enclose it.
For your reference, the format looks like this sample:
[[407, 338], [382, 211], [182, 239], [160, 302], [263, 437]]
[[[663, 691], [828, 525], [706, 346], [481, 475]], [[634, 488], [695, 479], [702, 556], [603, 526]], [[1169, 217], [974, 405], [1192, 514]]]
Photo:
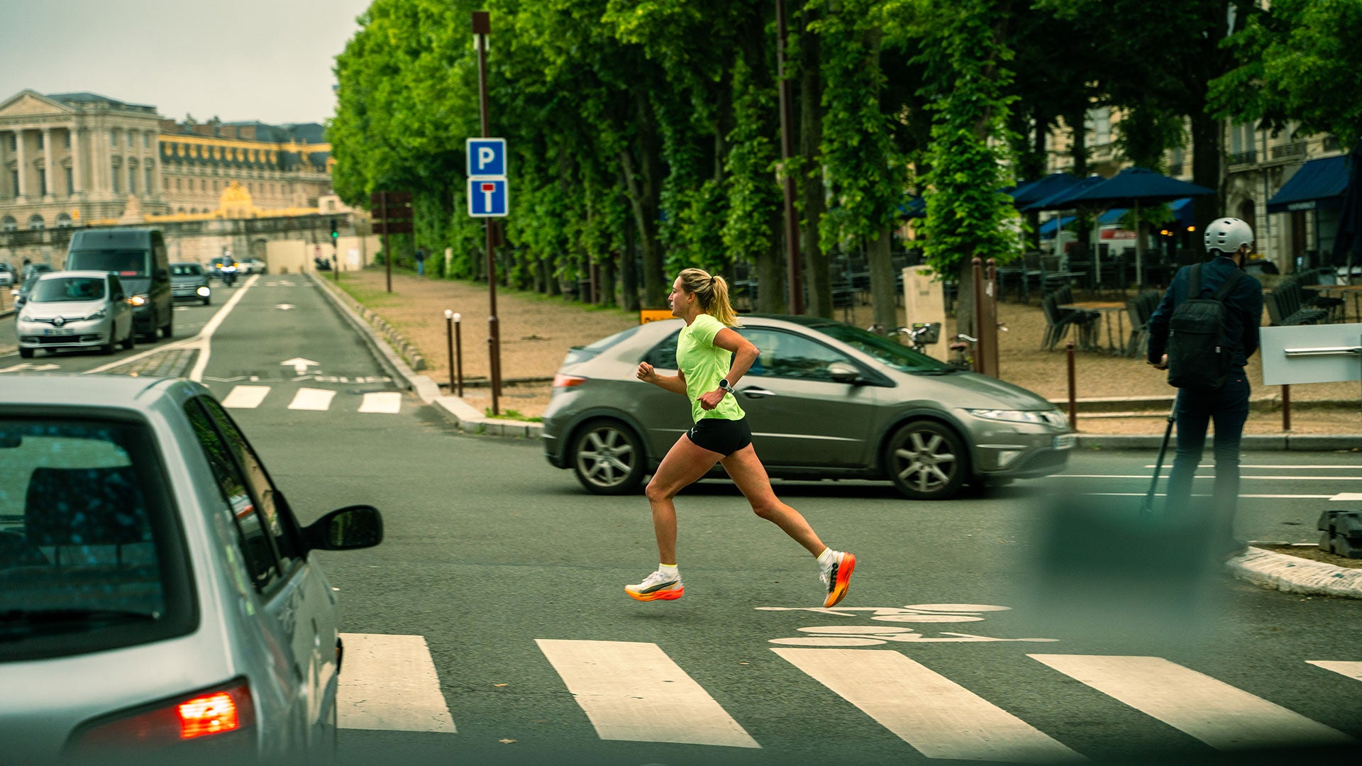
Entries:
[[0, 660], [178, 635], [183, 534], [146, 424], [0, 416]]

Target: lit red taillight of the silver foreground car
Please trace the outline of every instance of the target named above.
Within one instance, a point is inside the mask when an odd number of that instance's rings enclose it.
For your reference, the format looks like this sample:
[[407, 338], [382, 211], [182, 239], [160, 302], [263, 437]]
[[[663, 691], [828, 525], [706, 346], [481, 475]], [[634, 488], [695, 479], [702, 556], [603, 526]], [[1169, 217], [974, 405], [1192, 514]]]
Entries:
[[161, 747], [248, 729], [255, 724], [251, 687], [245, 681], [187, 695], [153, 710], [105, 720], [84, 731], [76, 750]]

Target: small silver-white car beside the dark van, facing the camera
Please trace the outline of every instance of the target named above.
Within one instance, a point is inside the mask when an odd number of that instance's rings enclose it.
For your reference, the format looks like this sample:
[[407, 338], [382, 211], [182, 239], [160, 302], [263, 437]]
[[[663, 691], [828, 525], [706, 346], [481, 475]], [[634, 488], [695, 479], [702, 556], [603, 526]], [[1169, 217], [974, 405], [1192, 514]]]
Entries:
[[25, 284], [29, 292], [15, 333], [19, 356], [39, 349], [99, 349], [136, 343], [132, 305], [123, 282], [110, 271], [48, 271]]

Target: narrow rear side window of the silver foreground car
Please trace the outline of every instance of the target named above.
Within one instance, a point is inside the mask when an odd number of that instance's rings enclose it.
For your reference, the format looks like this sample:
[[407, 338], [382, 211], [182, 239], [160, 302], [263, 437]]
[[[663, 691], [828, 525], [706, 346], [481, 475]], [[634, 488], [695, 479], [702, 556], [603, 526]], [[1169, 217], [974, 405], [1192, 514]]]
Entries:
[[193, 425], [199, 446], [203, 447], [203, 455], [212, 470], [212, 478], [218, 484], [222, 504], [217, 510], [232, 519], [230, 525], [237, 532], [237, 548], [241, 551], [252, 585], [256, 590], [266, 590], [279, 579], [279, 562], [264, 522], [256, 514], [255, 503], [247, 489], [247, 478], [232, 459], [232, 448], [203, 409], [202, 399], [185, 402], [184, 413]]

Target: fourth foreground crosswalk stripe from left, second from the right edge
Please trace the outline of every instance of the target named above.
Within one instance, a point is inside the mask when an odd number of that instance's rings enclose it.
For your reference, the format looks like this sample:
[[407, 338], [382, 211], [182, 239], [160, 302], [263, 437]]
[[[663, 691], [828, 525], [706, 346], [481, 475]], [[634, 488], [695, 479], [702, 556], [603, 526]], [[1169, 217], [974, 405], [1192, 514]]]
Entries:
[[1352, 741], [1318, 721], [1162, 657], [1030, 657], [1215, 748]]

